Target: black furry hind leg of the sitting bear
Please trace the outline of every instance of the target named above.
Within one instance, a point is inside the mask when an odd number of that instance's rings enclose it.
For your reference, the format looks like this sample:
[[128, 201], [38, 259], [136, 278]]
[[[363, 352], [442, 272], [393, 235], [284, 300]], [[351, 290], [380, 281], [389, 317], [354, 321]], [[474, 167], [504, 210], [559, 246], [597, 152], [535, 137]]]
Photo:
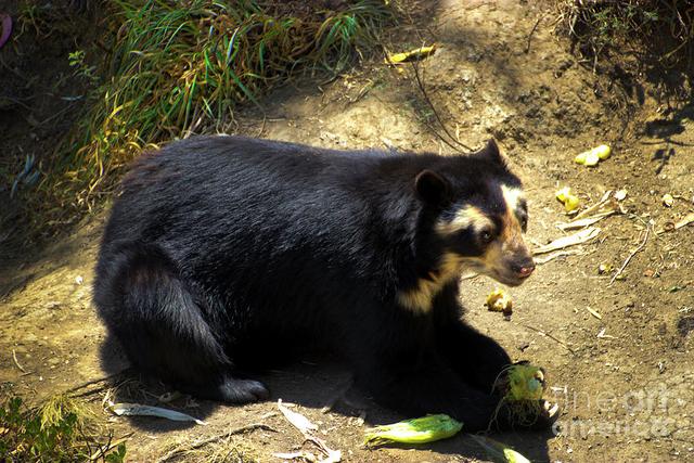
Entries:
[[252, 402], [266, 387], [231, 376], [232, 362], [203, 316], [203, 303], [156, 245], [129, 244], [104, 253], [94, 300], [141, 372], [200, 398]]

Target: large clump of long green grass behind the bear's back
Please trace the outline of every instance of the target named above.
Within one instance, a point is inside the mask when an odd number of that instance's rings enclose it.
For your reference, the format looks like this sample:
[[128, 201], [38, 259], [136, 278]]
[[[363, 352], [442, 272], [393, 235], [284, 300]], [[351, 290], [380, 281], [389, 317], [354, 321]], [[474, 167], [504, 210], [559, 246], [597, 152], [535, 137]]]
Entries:
[[[111, 53], [101, 85], [75, 130], [56, 150], [27, 197], [35, 226], [79, 216], [143, 150], [190, 133], [220, 131], [239, 103], [298, 74], [334, 75], [373, 49], [391, 21], [383, 0], [350, 0], [338, 11], [322, 2], [260, 0], [112, 0]], [[93, 79], [83, 54], [76, 73]], [[49, 222], [51, 223], [51, 222]]]

